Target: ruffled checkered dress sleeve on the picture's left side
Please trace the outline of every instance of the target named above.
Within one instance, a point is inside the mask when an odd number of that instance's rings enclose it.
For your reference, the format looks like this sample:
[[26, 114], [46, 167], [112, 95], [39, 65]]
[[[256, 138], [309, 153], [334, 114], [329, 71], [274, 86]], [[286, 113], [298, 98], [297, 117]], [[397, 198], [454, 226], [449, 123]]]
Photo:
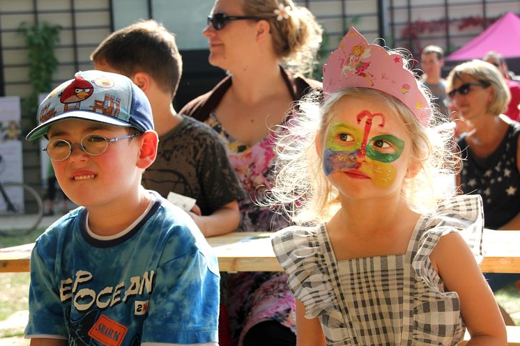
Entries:
[[[278, 262], [288, 276], [289, 288], [305, 306], [305, 317], [314, 318], [337, 308], [320, 236], [323, 226], [291, 226], [271, 235]], [[325, 249], [326, 250], [326, 249]]]

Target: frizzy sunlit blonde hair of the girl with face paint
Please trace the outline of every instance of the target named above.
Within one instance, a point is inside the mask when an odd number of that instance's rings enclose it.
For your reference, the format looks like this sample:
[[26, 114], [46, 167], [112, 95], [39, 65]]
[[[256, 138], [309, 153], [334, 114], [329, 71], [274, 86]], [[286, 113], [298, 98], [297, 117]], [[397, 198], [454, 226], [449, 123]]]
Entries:
[[[420, 84], [418, 87], [422, 88]], [[346, 88], [330, 95], [321, 107], [317, 102], [319, 95], [310, 95], [298, 105], [300, 113], [284, 126], [276, 147], [275, 184], [268, 194], [276, 210], [302, 224], [327, 221], [339, 207], [338, 191], [323, 172], [315, 141], [326, 137], [335, 107], [345, 97], [382, 102], [397, 114], [410, 134], [411, 159], [420, 164], [419, 173], [405, 178], [402, 184], [402, 196], [411, 210], [431, 212], [439, 201], [455, 194], [446, 180], [454, 173], [458, 160], [452, 151], [453, 129], [448, 123], [441, 123], [438, 112], [433, 112], [435, 119], [431, 121], [438, 125], [424, 127], [392, 95], [370, 88]]]

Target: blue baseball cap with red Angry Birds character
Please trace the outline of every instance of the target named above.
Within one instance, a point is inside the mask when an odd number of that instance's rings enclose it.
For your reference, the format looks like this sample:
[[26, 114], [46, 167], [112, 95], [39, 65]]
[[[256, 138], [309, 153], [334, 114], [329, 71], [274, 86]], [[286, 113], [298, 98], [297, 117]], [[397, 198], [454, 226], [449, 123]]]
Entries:
[[143, 91], [128, 77], [98, 70], [77, 72], [49, 93], [38, 107], [38, 126], [26, 139], [38, 139], [50, 125], [71, 118], [141, 132], [153, 129], [152, 109]]

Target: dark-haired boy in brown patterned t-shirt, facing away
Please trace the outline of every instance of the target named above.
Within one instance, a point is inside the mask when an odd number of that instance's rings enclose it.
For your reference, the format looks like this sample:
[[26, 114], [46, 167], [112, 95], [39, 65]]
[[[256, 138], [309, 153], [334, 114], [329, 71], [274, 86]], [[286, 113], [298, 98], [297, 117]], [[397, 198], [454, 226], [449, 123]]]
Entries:
[[165, 198], [172, 191], [197, 200], [190, 215], [206, 237], [234, 231], [244, 193], [224, 144], [211, 127], [172, 105], [182, 72], [175, 37], [154, 20], [137, 22], [105, 38], [91, 59], [96, 70], [132, 79], [150, 100], [160, 141], [143, 186]]

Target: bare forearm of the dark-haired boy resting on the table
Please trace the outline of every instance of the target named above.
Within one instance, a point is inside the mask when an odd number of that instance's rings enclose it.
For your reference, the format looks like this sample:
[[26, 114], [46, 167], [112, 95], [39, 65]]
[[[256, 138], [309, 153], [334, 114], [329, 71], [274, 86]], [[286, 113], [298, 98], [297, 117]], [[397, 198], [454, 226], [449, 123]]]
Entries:
[[197, 223], [204, 237], [215, 237], [215, 235], [231, 233], [236, 230], [240, 222], [240, 211], [238, 210], [238, 202], [236, 200], [222, 205], [220, 209], [215, 210], [211, 215], [200, 216], [190, 212], [190, 216]]

